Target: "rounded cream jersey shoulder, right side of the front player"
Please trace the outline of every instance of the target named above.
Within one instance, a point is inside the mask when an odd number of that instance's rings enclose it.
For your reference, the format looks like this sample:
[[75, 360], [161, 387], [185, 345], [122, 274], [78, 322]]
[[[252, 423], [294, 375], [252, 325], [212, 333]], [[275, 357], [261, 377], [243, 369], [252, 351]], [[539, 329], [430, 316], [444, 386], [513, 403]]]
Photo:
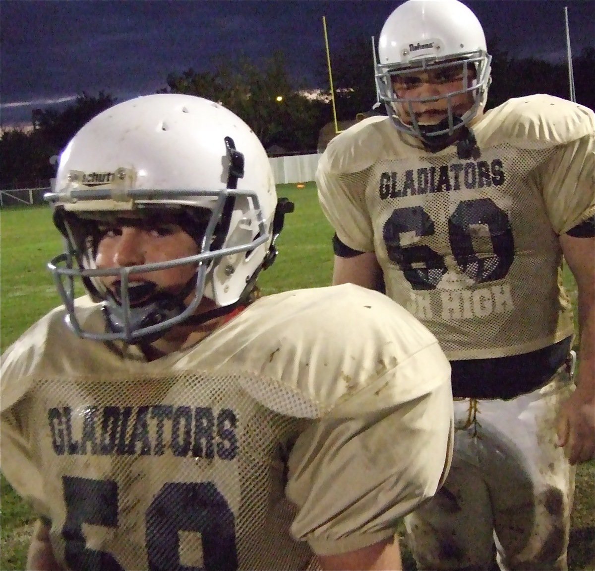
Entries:
[[203, 355], [218, 347], [211, 358], [253, 398], [295, 417], [361, 414], [450, 381], [430, 331], [389, 297], [353, 284], [263, 297], [205, 342]]

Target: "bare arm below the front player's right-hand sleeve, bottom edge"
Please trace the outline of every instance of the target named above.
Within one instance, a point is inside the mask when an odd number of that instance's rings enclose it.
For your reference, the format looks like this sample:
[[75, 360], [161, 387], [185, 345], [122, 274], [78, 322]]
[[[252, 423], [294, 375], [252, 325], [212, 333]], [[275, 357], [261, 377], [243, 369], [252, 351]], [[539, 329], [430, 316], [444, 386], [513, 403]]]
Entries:
[[389, 571], [400, 570], [399, 542], [394, 538], [368, 545], [356, 551], [339, 555], [319, 555], [318, 561], [325, 571]]

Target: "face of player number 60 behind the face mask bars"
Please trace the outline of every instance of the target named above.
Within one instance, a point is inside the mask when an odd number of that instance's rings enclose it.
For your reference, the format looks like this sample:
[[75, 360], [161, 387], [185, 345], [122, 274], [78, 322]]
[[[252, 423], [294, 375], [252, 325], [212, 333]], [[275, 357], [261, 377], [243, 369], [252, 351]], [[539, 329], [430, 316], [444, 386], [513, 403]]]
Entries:
[[[466, 81], [465, 81], [466, 79]], [[463, 64], [444, 66], [425, 71], [411, 72], [393, 76], [393, 90], [397, 97], [411, 103], [397, 104], [399, 117], [403, 123], [411, 124], [411, 110], [421, 125], [436, 125], [448, 116], [448, 94], [461, 91], [471, 85], [474, 70], [465, 68]], [[415, 101], [418, 99], [431, 101]], [[462, 116], [473, 105], [471, 92], [450, 97], [453, 114]]]

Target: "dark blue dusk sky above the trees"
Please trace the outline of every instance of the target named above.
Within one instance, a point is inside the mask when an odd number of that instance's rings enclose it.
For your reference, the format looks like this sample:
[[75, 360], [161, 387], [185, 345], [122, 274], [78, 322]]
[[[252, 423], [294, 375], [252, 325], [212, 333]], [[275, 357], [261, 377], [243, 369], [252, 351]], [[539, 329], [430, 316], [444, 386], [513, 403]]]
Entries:
[[[594, 0], [466, 0], [488, 39], [519, 57], [565, 60], [595, 46]], [[2, 0], [0, 122], [104, 91], [126, 100], [166, 86], [168, 73], [256, 64], [286, 54], [296, 84], [327, 88], [322, 15], [331, 60], [354, 36], [377, 39], [398, 0]], [[322, 70], [322, 73], [321, 73]], [[575, 75], [578, 73], [575, 70]], [[373, 81], [372, 69], [370, 81]]]

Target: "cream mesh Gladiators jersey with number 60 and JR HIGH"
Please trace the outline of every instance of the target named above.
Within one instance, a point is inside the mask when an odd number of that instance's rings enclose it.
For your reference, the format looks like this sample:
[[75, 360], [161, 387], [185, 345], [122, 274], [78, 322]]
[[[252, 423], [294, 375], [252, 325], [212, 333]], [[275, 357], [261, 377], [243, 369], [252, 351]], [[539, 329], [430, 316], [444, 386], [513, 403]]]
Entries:
[[595, 115], [549, 95], [474, 126], [479, 154], [431, 154], [372, 117], [331, 141], [317, 170], [337, 236], [375, 252], [387, 294], [449, 359], [541, 349], [572, 334], [558, 235], [595, 213]]

